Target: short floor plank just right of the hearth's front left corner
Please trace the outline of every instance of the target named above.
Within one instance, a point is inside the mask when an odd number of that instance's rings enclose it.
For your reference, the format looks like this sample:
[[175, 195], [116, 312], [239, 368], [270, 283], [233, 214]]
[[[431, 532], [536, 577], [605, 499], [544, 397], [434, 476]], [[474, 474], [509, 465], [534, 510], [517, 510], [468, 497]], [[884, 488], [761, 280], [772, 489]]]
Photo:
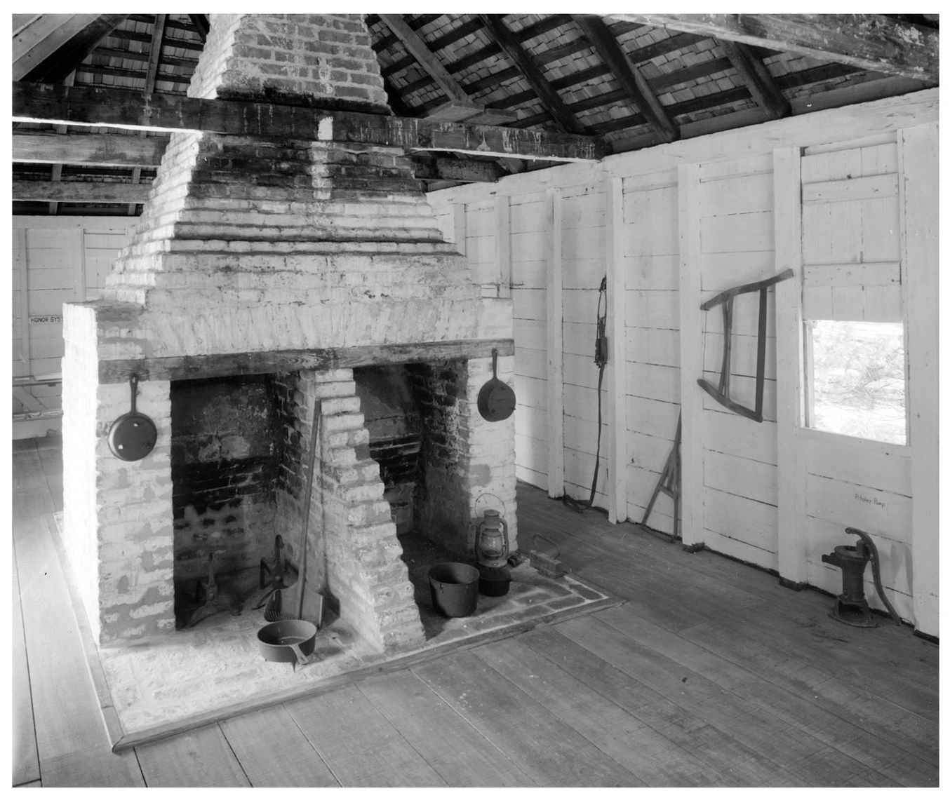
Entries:
[[250, 787], [218, 724], [136, 748], [148, 787]]

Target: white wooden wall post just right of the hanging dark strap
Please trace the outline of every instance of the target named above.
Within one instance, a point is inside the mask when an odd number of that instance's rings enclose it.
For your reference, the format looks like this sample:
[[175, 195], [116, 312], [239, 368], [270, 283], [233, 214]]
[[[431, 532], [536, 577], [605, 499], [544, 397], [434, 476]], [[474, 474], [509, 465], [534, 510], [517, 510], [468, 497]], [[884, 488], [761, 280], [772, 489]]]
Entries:
[[608, 178], [605, 254], [607, 261], [607, 517], [627, 520], [627, 270], [623, 260], [623, 180]]

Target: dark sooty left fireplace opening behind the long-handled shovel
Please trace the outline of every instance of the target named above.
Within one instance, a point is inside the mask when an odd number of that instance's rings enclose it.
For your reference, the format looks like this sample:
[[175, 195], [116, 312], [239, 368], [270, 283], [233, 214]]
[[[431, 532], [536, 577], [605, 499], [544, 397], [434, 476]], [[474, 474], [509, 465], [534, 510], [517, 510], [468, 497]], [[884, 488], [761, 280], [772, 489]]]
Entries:
[[[272, 556], [276, 491], [284, 454], [276, 382], [270, 374], [173, 382], [171, 479], [177, 626], [211, 609], [237, 614]], [[199, 611], [210, 584], [226, 606]], [[206, 599], [206, 597], [203, 597]]]

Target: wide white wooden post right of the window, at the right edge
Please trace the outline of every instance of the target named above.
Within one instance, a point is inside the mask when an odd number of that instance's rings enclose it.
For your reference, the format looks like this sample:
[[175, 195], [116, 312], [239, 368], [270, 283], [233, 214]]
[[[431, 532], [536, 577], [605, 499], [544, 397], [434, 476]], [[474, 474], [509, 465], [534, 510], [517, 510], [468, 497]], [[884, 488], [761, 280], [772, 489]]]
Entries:
[[907, 418], [911, 451], [911, 545], [914, 625], [940, 635], [940, 402], [939, 252], [940, 196], [937, 124], [898, 133], [902, 261], [907, 336]]

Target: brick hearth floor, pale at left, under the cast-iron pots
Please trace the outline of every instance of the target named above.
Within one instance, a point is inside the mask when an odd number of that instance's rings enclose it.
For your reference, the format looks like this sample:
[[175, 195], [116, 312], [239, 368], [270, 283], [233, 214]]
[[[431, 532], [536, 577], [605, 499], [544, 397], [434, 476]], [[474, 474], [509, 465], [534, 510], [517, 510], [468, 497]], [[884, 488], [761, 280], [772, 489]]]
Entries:
[[[61, 514], [56, 521], [62, 525]], [[161, 639], [116, 649], [96, 649], [87, 639], [93, 680], [113, 747], [130, 748], [328, 690], [362, 675], [442, 656], [462, 645], [515, 635], [540, 621], [613, 603], [569, 575], [548, 579], [525, 562], [512, 569], [505, 596], [479, 595], [473, 615], [445, 618], [432, 609], [428, 567], [450, 558], [420, 536], [408, 535], [400, 541], [426, 632], [425, 641], [408, 652], [375, 655], [360, 645], [346, 624], [328, 614], [317, 633], [311, 663], [295, 668], [290, 663], [267, 662], [257, 649], [257, 630], [266, 621], [261, 610], [251, 609], [261, 591], [245, 600], [239, 615], [224, 611]], [[288, 591], [290, 596], [293, 593]], [[74, 604], [79, 607], [78, 602]]]

